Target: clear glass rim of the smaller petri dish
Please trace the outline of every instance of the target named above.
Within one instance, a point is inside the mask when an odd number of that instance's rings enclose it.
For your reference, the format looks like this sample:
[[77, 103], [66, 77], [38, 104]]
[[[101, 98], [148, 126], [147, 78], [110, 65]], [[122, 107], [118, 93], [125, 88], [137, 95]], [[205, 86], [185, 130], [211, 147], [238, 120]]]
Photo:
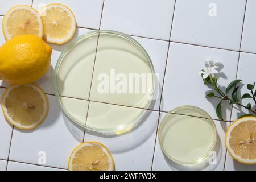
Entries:
[[[213, 126], [213, 131], [214, 131], [214, 138], [213, 138], [213, 143], [212, 143], [212, 146], [210, 147], [209, 151], [207, 152], [207, 154], [205, 154], [204, 156], [201, 156], [201, 160], [195, 160], [193, 162], [183, 162], [183, 161], [180, 161], [180, 160], [177, 160], [175, 158], [172, 158], [172, 156], [168, 155], [168, 153], [164, 150], [164, 147], [163, 147], [163, 142], [162, 142], [162, 139], [160, 137], [160, 135], [162, 134], [162, 127], [163, 127], [163, 124], [164, 122], [167, 122], [167, 117], [169, 114], [177, 114], [175, 113], [177, 110], [180, 110], [180, 109], [185, 109], [185, 108], [190, 108], [190, 109], [195, 109], [195, 110], [199, 110], [201, 111], [203, 114], [205, 114], [205, 119], [209, 119], [211, 125]], [[180, 114], [182, 115], [182, 114]], [[184, 114], [185, 115], [185, 114]], [[188, 116], [188, 117], [194, 117], [192, 115], [185, 115], [185, 116]], [[202, 117], [204, 118], [204, 117]], [[211, 151], [214, 150], [214, 148], [216, 147], [216, 144], [217, 144], [217, 129], [216, 129], [216, 125], [212, 119], [212, 117], [210, 117], [210, 115], [204, 111], [203, 109], [197, 107], [197, 106], [192, 106], [192, 105], [183, 105], [183, 106], [179, 106], [179, 107], [175, 107], [174, 109], [172, 109], [171, 111], [169, 111], [168, 113], [166, 113], [166, 115], [164, 116], [164, 118], [162, 119], [162, 122], [160, 123], [160, 126], [158, 128], [158, 131], [159, 131], [159, 134], [158, 134], [158, 141], [159, 141], [159, 144], [160, 144], [160, 148], [161, 150], [163, 151], [164, 155], [167, 156], [168, 159], [172, 160], [173, 162], [177, 163], [177, 164], [181, 164], [181, 165], [192, 165], [192, 164], [198, 164], [200, 162], [202, 162], [203, 160], [205, 160]]]

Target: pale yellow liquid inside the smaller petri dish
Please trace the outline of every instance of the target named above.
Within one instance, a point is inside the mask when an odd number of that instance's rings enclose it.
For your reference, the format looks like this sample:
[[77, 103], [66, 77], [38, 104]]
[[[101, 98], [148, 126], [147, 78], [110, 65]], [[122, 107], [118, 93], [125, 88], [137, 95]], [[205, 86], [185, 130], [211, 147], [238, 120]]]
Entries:
[[214, 143], [214, 127], [208, 119], [175, 115], [162, 127], [163, 150], [181, 163], [200, 162]]

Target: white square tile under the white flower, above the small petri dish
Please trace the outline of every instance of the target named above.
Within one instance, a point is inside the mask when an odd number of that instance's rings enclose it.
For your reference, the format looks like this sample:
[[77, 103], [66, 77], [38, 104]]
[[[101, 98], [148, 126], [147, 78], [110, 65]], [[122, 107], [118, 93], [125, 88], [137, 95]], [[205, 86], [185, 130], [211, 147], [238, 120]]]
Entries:
[[[218, 74], [218, 84], [227, 86], [236, 78], [238, 52], [222, 49], [171, 43], [163, 86], [162, 111], [170, 111], [177, 106], [193, 105], [207, 111], [213, 119], [216, 115], [216, 98], [205, 98], [208, 86], [199, 75], [208, 60], [222, 61], [224, 68]], [[224, 106], [223, 106], [224, 107]], [[226, 107], [225, 107], [226, 108]], [[223, 108], [223, 117], [230, 120], [230, 106]]]

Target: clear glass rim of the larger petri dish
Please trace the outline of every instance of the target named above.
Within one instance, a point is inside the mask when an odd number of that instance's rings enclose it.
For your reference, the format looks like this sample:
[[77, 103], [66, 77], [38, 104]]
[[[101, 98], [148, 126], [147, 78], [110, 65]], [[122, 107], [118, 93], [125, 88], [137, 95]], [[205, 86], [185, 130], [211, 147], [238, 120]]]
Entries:
[[[65, 56], [65, 54], [76, 44], [78, 43], [80, 40], [82, 39], [86, 39], [89, 38], [90, 36], [93, 36], [95, 34], [100, 35], [100, 33], [107, 33], [107, 34], [113, 34], [113, 35], [118, 35], [118, 36], [122, 36], [123, 38], [131, 41], [132, 43], [134, 43], [135, 46], [138, 47], [138, 49], [140, 51], [142, 51], [142, 53], [144, 54], [144, 56], [146, 56], [146, 59], [148, 61], [147, 64], [150, 65], [150, 69], [152, 72], [152, 94], [150, 96], [150, 98], [147, 101], [147, 104], [145, 105], [144, 108], [139, 108], [138, 109], [142, 109], [141, 114], [138, 115], [137, 118], [134, 119], [133, 122], [129, 123], [129, 125], [126, 125], [125, 127], [123, 127], [122, 129], [118, 129], [117, 127], [112, 128], [112, 129], [100, 129], [98, 127], [92, 127], [92, 126], [88, 126], [88, 125], [82, 125], [81, 122], [79, 122], [76, 118], [72, 117], [71, 114], [69, 114], [69, 111], [67, 111], [65, 109], [65, 107], [63, 106], [60, 98], [63, 96], [59, 95], [58, 89], [57, 89], [57, 75], [59, 72], [59, 67], [61, 65], [61, 61], [63, 60], [63, 57]], [[96, 48], [97, 49], [97, 48]], [[95, 61], [95, 60], [94, 60]], [[148, 55], [147, 51], [141, 46], [140, 43], [137, 42], [137, 40], [135, 40], [134, 38], [132, 38], [129, 35], [123, 34], [122, 32], [118, 32], [118, 31], [113, 31], [113, 30], [94, 30], [94, 31], [90, 31], [84, 35], [80, 35], [77, 38], [75, 38], [74, 40], [72, 40], [67, 46], [65, 46], [65, 48], [63, 49], [63, 51], [61, 51], [61, 54], [57, 60], [55, 69], [54, 69], [54, 76], [53, 76], [53, 85], [54, 85], [54, 90], [55, 90], [55, 96], [57, 97], [57, 102], [60, 105], [61, 110], [63, 111], [63, 113], [69, 118], [71, 119], [72, 122], [76, 123], [77, 125], [79, 125], [80, 127], [84, 128], [84, 129], [88, 129], [91, 131], [96, 131], [96, 132], [100, 132], [100, 133], [110, 133], [110, 134], [122, 134], [122, 133], [126, 133], [126, 131], [129, 129], [133, 129], [135, 126], [138, 125], [138, 123], [141, 122], [142, 118], [144, 117], [146, 111], [149, 109], [150, 105], [152, 104], [152, 98], [154, 97], [155, 94], [155, 69], [154, 69], [154, 65], [152, 64], [152, 60], [150, 58], [150, 56]], [[85, 101], [89, 101], [90, 100], [85, 100]], [[93, 102], [93, 101], [92, 101]], [[115, 104], [113, 104], [115, 105]], [[87, 113], [88, 114], [88, 113]], [[123, 132], [122, 132], [123, 131]]]

